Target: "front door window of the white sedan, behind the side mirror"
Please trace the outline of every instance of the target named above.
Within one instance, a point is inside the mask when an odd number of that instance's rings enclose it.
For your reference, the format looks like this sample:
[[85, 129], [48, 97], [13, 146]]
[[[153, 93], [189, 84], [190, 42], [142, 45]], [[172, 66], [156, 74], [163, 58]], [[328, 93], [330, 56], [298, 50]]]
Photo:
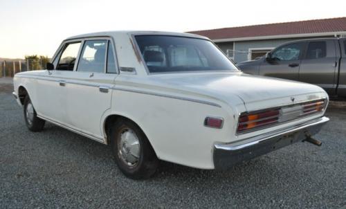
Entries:
[[57, 64], [56, 70], [60, 71], [73, 71], [75, 66], [75, 59], [80, 50], [80, 42], [67, 44], [62, 51], [62, 55]]

